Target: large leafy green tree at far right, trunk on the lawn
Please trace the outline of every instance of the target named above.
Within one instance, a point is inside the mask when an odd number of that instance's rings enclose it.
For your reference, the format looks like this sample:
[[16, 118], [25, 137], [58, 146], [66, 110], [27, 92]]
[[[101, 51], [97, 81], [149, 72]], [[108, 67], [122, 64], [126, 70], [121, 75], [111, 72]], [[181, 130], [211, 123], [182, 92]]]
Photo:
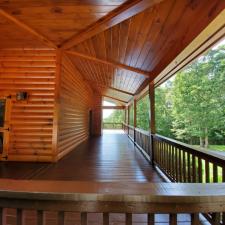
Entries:
[[207, 148], [209, 136], [224, 130], [224, 53], [225, 46], [210, 50], [176, 75], [172, 115], [178, 139], [192, 143], [198, 137], [200, 146]]

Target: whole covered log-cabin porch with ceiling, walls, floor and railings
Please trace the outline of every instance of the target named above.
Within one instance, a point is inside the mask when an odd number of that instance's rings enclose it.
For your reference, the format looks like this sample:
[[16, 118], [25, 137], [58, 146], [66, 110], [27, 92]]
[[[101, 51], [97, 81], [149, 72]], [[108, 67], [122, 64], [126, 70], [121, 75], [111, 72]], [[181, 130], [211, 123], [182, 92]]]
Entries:
[[157, 134], [155, 113], [224, 38], [225, 1], [9, 0], [0, 20], [0, 225], [225, 224], [225, 157]]

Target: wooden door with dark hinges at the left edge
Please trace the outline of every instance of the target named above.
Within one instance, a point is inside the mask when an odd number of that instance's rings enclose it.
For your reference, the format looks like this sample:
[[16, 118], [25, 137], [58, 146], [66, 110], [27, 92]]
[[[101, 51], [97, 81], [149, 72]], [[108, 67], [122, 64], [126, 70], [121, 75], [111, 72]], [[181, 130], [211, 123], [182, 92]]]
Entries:
[[11, 99], [0, 97], [0, 159], [7, 160], [9, 149]]

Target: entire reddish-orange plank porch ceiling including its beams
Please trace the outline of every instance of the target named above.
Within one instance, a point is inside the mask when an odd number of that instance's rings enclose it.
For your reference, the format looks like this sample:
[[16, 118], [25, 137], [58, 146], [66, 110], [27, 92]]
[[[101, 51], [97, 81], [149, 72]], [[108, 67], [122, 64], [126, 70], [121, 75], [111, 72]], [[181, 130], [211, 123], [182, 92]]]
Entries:
[[0, 0], [0, 49], [76, 52], [69, 57], [91, 86], [127, 102], [124, 92], [153, 80], [224, 8], [219, 0]]

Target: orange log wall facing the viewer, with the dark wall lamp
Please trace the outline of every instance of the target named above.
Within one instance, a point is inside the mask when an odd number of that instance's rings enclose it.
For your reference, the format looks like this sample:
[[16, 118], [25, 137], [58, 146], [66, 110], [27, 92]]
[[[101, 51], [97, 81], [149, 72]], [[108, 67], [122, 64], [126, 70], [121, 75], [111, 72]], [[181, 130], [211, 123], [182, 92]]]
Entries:
[[[11, 96], [9, 143], [11, 161], [52, 161], [56, 74], [55, 50], [1, 50], [0, 96]], [[27, 100], [16, 93], [27, 92]]]

